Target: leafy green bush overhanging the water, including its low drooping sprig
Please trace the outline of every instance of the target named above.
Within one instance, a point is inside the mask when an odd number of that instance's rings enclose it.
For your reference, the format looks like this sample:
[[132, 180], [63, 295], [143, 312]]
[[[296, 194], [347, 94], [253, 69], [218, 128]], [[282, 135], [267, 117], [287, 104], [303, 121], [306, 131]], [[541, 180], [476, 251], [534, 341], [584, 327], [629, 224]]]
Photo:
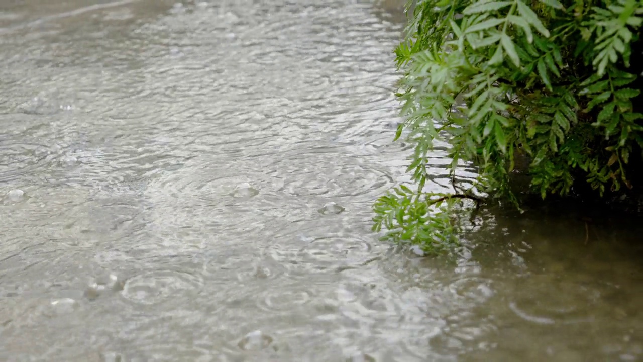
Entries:
[[[408, 172], [417, 190], [379, 198], [374, 230], [443, 250], [457, 233], [445, 215], [456, 200], [477, 191], [518, 206], [516, 157], [530, 160], [521, 171], [543, 198], [579, 182], [599, 195], [633, 187], [629, 158], [643, 147], [633, 83], [642, 67], [629, 66], [643, 0], [418, 0], [413, 15], [395, 50], [405, 117], [395, 139], [404, 134], [415, 146]], [[451, 176], [461, 160], [479, 167], [458, 198], [424, 192], [435, 140], [450, 146]]]

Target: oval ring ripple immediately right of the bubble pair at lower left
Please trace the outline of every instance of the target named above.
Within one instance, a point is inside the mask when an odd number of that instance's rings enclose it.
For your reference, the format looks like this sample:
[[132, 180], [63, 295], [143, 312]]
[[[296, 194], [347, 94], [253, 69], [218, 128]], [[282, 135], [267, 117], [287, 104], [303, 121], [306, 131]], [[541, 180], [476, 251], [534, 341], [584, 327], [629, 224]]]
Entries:
[[203, 278], [173, 270], [148, 271], [125, 281], [122, 296], [133, 303], [153, 305], [172, 298], [185, 298], [186, 292], [203, 287]]

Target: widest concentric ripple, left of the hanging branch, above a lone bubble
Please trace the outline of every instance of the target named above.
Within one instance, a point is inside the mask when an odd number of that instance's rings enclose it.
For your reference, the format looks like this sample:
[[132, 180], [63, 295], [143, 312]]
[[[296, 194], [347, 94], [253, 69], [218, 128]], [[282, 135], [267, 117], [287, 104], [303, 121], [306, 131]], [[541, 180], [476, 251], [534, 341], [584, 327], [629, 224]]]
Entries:
[[392, 176], [368, 160], [341, 152], [339, 148], [293, 150], [270, 159], [258, 157], [267, 175], [280, 180], [278, 192], [288, 196], [329, 197], [383, 194], [394, 185]]

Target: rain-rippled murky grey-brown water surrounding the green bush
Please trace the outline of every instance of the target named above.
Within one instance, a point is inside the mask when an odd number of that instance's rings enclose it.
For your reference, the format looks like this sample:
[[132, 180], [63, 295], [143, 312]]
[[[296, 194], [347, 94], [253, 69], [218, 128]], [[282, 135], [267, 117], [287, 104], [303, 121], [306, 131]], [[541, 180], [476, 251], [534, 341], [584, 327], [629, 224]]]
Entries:
[[643, 359], [638, 225], [370, 233], [408, 180], [390, 8], [0, 0], [0, 360]]

